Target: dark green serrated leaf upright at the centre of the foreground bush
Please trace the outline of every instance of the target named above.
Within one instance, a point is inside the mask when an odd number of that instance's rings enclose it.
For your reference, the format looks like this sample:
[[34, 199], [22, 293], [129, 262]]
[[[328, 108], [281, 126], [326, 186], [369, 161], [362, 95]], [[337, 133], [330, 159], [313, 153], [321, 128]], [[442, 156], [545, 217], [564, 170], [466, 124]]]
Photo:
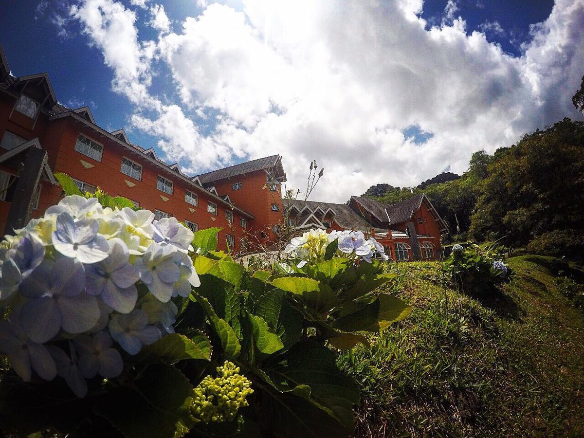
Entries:
[[302, 333], [302, 317], [286, 298], [286, 292], [273, 289], [258, 298], [256, 315], [262, 317], [284, 344], [284, 349], [294, 345]]

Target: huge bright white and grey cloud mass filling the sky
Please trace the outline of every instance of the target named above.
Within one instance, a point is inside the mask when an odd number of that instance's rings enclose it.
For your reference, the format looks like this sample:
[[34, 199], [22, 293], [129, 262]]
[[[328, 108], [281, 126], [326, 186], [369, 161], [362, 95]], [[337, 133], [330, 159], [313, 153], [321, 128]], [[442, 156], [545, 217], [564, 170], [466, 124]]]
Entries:
[[[312, 198], [345, 201], [378, 182], [463, 172], [480, 148], [578, 116], [569, 96], [584, 72], [584, 0], [557, 0], [520, 57], [468, 32], [451, 0], [429, 29], [422, 0], [199, 4], [178, 32], [158, 25], [156, 41], [141, 41], [135, 12], [115, 0], [71, 10], [135, 104], [133, 126], [192, 173], [279, 153], [301, 186], [317, 159], [326, 170]], [[165, 80], [153, 60], [171, 72], [176, 102], [149, 91]], [[406, 137], [411, 126], [431, 135]]]

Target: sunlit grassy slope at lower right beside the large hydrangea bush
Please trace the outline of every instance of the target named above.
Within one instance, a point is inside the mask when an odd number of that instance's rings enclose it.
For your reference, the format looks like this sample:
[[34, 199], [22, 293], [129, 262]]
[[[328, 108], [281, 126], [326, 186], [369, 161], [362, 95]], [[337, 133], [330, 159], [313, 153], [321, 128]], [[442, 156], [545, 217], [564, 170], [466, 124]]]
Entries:
[[362, 388], [356, 436], [584, 436], [584, 317], [558, 288], [584, 273], [509, 263], [515, 279], [481, 301], [447, 287], [438, 262], [394, 265], [412, 314], [339, 359]]

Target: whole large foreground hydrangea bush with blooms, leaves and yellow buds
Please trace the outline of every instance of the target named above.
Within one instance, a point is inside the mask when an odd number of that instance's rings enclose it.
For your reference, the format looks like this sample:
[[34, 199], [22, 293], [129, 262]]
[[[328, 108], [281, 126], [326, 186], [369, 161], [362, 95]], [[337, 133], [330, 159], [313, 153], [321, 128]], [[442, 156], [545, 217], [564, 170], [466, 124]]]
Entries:
[[359, 392], [335, 349], [410, 311], [376, 292], [393, 278], [383, 247], [313, 230], [251, 272], [217, 251], [218, 228], [57, 178], [69, 196], [0, 245], [0, 432], [352, 432]]

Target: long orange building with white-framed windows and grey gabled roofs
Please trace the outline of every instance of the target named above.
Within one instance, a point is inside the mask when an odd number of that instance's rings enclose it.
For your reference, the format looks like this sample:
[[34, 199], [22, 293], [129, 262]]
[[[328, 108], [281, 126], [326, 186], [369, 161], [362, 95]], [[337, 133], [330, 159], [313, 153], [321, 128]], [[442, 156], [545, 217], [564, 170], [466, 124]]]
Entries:
[[5, 230], [6, 221], [19, 196], [15, 182], [29, 148], [45, 150], [48, 158], [29, 206], [33, 218], [60, 200], [54, 173], [62, 172], [85, 192], [100, 187], [153, 211], [157, 219], [173, 216], [193, 231], [219, 227], [218, 249], [236, 254], [272, 248], [289, 225], [298, 232], [361, 230], [376, 237], [392, 259], [412, 259], [411, 233], [405, 231], [413, 223], [422, 258], [430, 259], [436, 258], [446, 230], [425, 196], [394, 206], [356, 196], [346, 204], [283, 199], [286, 173], [280, 155], [186, 175], [152, 148], [132, 144], [123, 129], [108, 132], [98, 126], [88, 107], [60, 105], [47, 74], [12, 76], [1, 46], [0, 139], [0, 231], [5, 234], [12, 232]]

